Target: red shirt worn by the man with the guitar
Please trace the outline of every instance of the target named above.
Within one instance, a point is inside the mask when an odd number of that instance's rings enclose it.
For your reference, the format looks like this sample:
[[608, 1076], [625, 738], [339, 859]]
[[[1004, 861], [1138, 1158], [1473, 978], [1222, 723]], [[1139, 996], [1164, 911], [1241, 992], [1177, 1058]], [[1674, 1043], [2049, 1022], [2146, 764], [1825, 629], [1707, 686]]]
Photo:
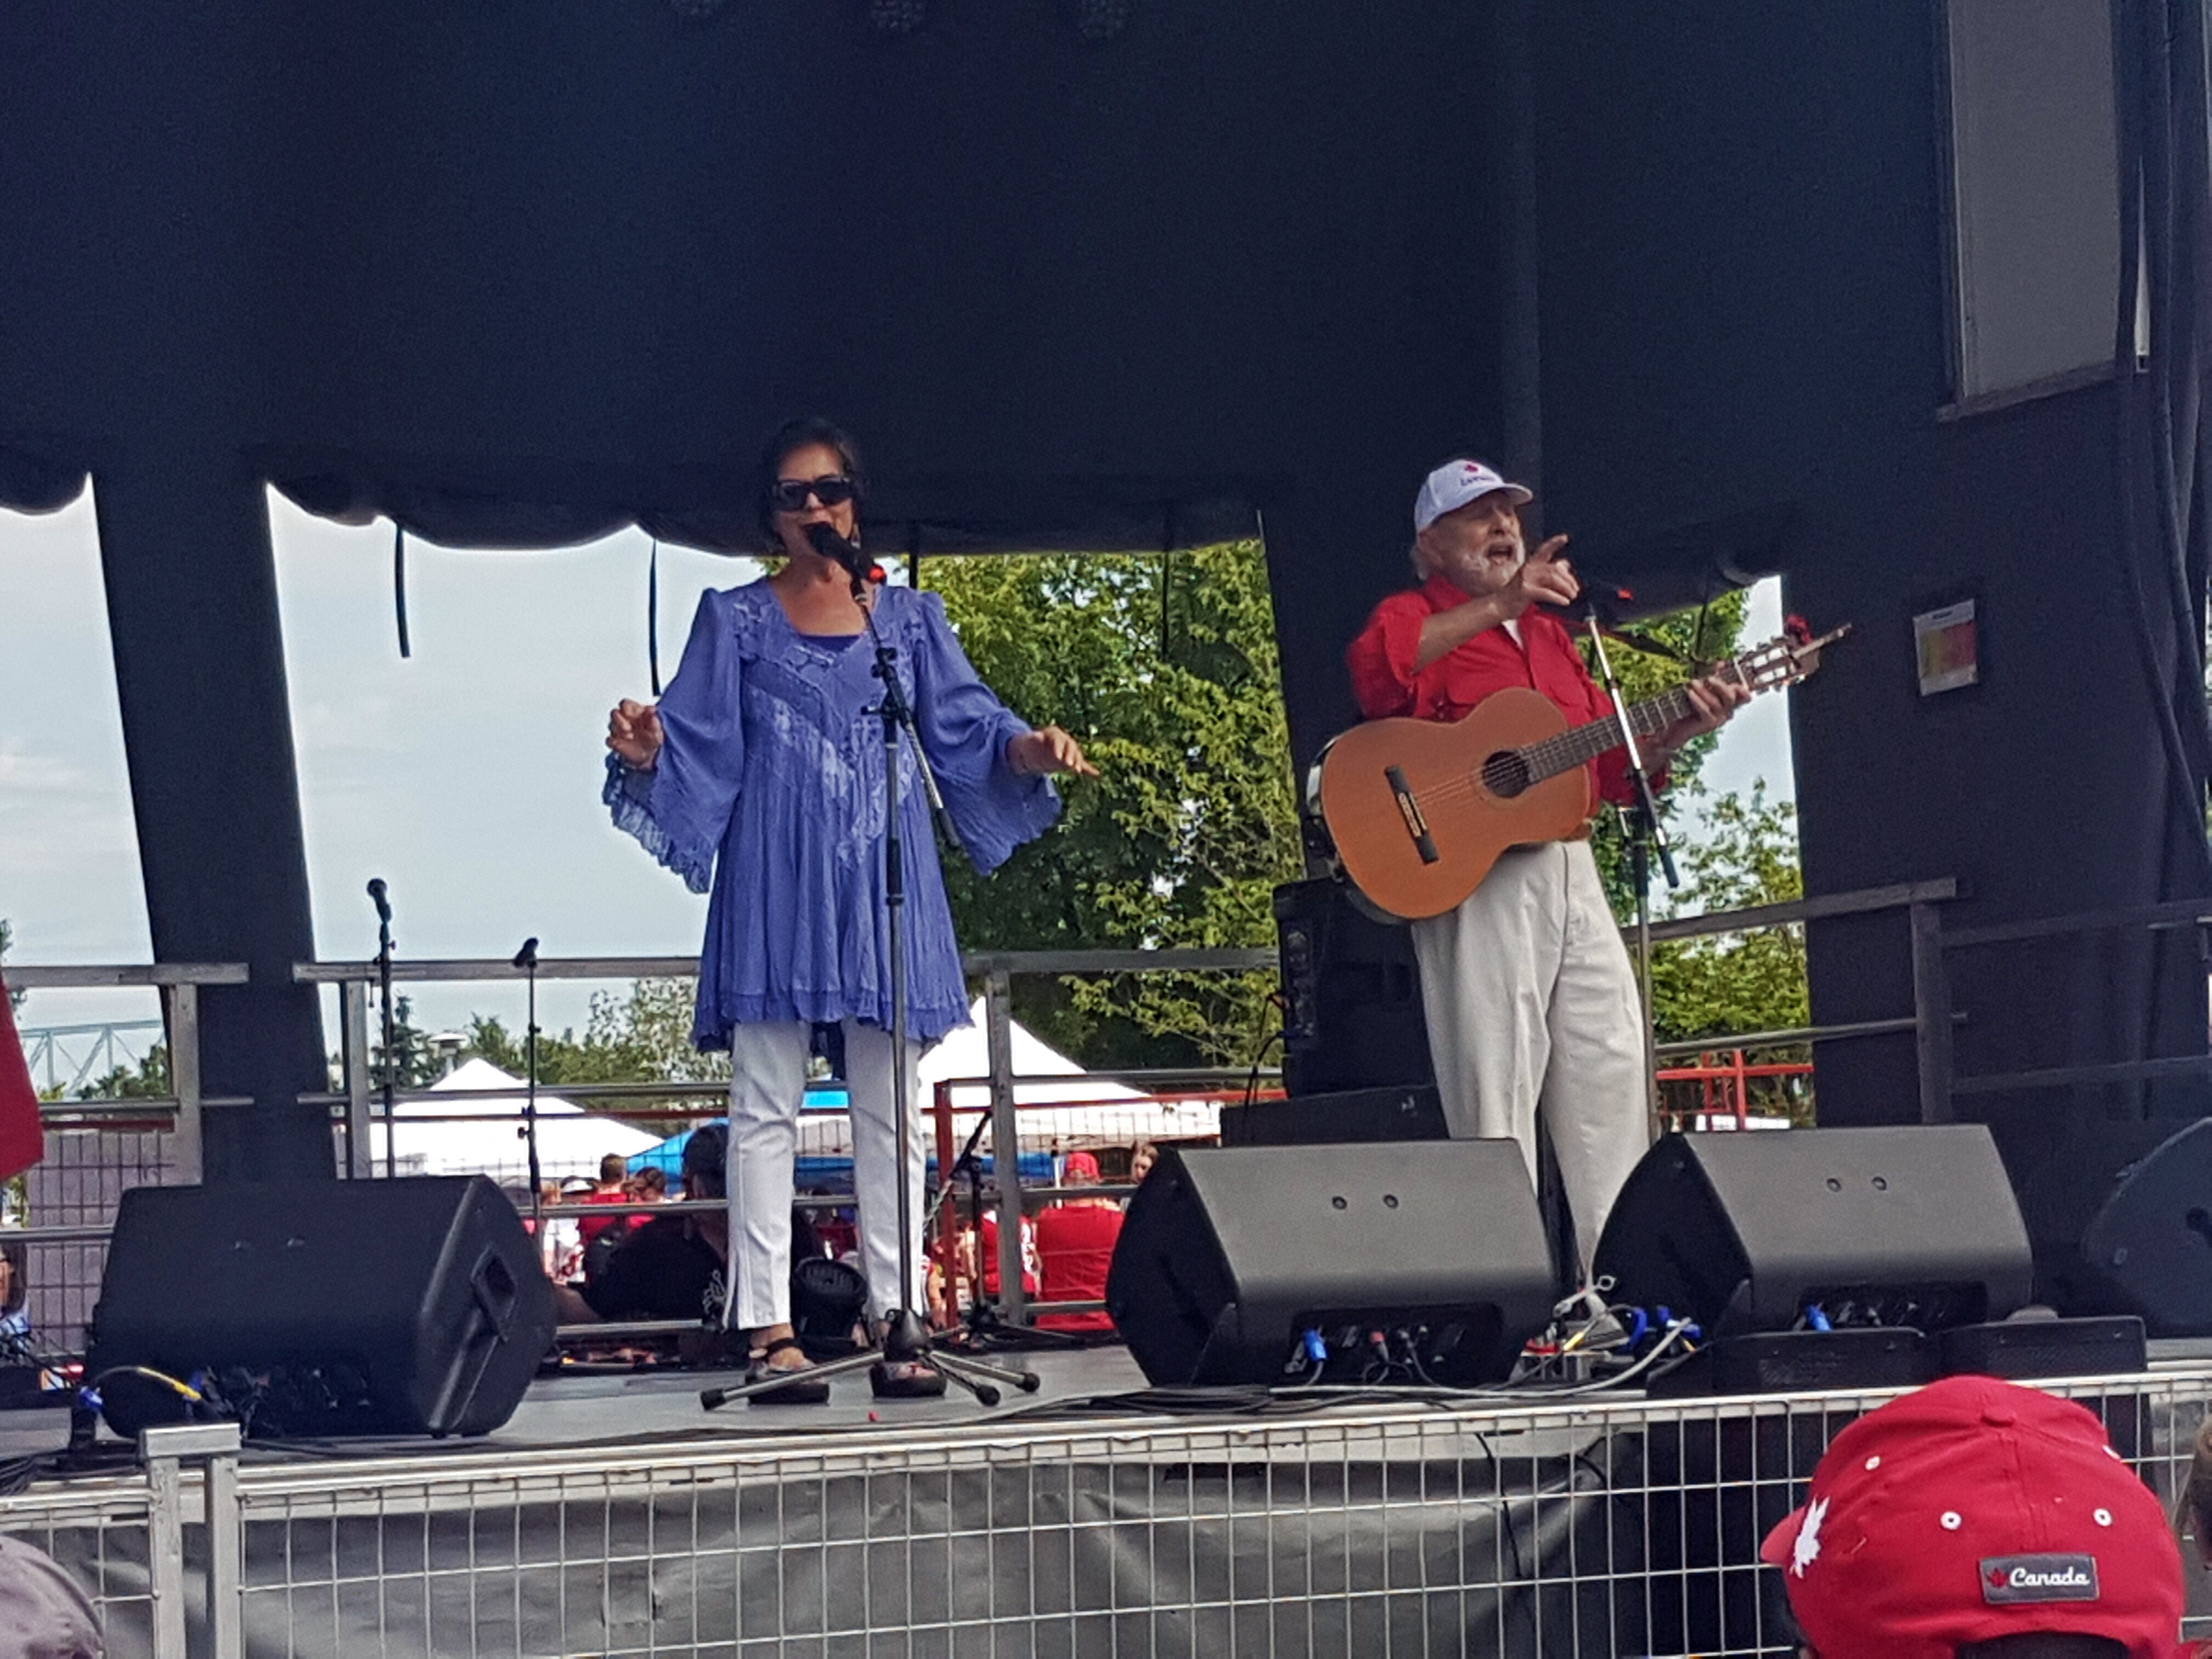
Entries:
[[[1352, 695], [1367, 719], [1411, 714], [1425, 721], [1455, 721], [1491, 692], [1506, 686], [1533, 686], [1559, 706], [1568, 726], [1582, 726], [1613, 712], [1613, 699], [1582, 666], [1582, 653], [1566, 626], [1548, 611], [1522, 611], [1520, 644], [1506, 628], [1484, 628], [1464, 639], [1427, 668], [1416, 668], [1420, 624], [1438, 611], [1467, 604], [1447, 577], [1431, 575], [1418, 588], [1394, 593], [1376, 606], [1352, 641]], [[1597, 794], [1619, 805], [1635, 805], [1628, 783], [1628, 759], [1621, 750], [1601, 754], [1590, 765]], [[1663, 774], [1652, 774], [1652, 785]]]

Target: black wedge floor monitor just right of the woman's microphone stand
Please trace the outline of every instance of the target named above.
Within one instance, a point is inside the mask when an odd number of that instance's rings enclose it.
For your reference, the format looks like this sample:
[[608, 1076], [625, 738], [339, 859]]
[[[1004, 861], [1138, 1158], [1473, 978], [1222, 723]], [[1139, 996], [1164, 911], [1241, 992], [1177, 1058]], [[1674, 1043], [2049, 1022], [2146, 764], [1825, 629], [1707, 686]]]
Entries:
[[1155, 1387], [1298, 1380], [1307, 1332], [1349, 1380], [1367, 1332], [1407, 1332], [1436, 1383], [1489, 1383], [1553, 1294], [1513, 1141], [1166, 1148], [1106, 1276]]

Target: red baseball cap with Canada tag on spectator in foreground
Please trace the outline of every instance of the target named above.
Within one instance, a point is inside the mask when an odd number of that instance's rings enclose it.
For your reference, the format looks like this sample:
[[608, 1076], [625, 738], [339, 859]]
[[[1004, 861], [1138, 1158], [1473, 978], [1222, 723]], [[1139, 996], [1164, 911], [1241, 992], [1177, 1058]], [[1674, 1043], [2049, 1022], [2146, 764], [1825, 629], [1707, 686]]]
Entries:
[[2062, 1630], [2181, 1650], [2181, 1548], [2166, 1511], [2075, 1405], [1953, 1376], [1836, 1436], [1809, 1502], [1767, 1533], [1820, 1659], [1951, 1659]]

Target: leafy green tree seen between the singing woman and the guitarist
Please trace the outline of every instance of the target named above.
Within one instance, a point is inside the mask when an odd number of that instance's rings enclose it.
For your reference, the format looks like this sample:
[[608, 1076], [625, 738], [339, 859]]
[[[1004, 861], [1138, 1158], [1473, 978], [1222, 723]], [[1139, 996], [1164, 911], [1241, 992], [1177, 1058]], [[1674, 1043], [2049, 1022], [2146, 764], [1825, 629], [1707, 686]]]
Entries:
[[[1097, 779], [991, 880], [947, 863], [971, 947], [1272, 947], [1303, 867], [1259, 542], [1146, 557], [925, 568], [984, 681], [1066, 726]], [[1015, 980], [1015, 1013], [1091, 1064], [1241, 1064], [1276, 1024], [1272, 973]]]

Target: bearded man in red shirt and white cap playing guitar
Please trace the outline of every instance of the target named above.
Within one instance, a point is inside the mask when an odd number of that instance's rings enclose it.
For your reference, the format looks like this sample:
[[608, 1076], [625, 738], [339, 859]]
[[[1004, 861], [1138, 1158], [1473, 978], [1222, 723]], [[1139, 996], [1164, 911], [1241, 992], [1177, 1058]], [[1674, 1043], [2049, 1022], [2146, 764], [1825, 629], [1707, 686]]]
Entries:
[[[1528, 553], [1531, 500], [1480, 460], [1429, 473], [1413, 500], [1420, 586], [1378, 604], [1347, 657], [1360, 714], [1451, 721], [1509, 686], [1544, 692], [1577, 726], [1613, 712], [1575, 637], [1542, 611], [1579, 584], [1564, 535]], [[1750, 699], [1719, 677], [1688, 690], [1697, 712], [1641, 745], [1655, 783], [1674, 750]], [[1619, 750], [1593, 783], [1597, 799], [1632, 801]], [[1648, 1146], [1637, 980], [1588, 836], [1515, 847], [1467, 902], [1411, 931], [1444, 1121], [1458, 1137], [1517, 1139], [1535, 1179], [1542, 1110], [1588, 1259]]]

